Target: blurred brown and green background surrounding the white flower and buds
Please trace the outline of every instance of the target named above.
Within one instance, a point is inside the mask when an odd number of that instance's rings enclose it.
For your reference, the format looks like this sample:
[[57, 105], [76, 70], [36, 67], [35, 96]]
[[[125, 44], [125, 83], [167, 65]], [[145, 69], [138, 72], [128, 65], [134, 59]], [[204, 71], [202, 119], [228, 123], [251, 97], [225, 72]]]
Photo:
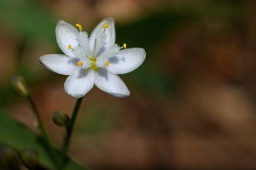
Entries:
[[[79, 112], [69, 155], [91, 169], [256, 168], [256, 2], [238, 0], [0, 0], [0, 107], [29, 127], [35, 117], [11, 89], [15, 74], [33, 89], [50, 137], [71, 113], [66, 76], [40, 65], [61, 53], [58, 20], [89, 32], [116, 20], [117, 43], [143, 47], [144, 64], [122, 75], [129, 98], [93, 88]], [[8, 127], [6, 127], [8, 128]]]

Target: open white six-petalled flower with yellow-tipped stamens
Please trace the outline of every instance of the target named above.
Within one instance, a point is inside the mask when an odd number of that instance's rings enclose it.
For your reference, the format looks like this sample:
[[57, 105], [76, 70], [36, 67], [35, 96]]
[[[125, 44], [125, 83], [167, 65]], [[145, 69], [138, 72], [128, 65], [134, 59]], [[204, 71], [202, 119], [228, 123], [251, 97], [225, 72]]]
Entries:
[[106, 18], [91, 33], [83, 27], [59, 21], [56, 38], [62, 54], [48, 54], [40, 62], [50, 71], [67, 75], [64, 84], [67, 94], [83, 97], [94, 84], [102, 91], [117, 97], [129, 96], [130, 92], [117, 74], [125, 74], [139, 67], [146, 57], [143, 48], [119, 47], [115, 44], [115, 21]]

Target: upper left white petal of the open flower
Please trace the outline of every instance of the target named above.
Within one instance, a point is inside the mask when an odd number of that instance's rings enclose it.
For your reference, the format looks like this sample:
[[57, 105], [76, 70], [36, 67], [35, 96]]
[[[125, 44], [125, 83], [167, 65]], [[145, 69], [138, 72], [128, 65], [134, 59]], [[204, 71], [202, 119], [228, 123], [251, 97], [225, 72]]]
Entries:
[[69, 57], [74, 57], [72, 50], [69, 50], [67, 47], [71, 45], [72, 48], [76, 48], [78, 46], [78, 35], [79, 31], [74, 28], [74, 26], [66, 23], [65, 21], [59, 21], [56, 29], [56, 39], [61, 48], [62, 52]]

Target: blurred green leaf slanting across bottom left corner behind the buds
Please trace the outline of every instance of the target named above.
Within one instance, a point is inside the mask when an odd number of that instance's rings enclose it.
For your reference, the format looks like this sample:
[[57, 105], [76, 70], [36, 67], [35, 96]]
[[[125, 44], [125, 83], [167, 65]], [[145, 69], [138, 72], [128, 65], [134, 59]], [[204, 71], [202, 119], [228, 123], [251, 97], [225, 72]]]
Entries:
[[[42, 142], [40, 142], [41, 140], [38, 139], [38, 135], [35, 132], [11, 118], [11, 116], [3, 110], [0, 110], [0, 121], [1, 142], [11, 145], [17, 150], [24, 150], [26, 148], [35, 149], [38, 153], [39, 161], [44, 164], [44, 166], [49, 168], [54, 167], [47, 152], [45, 152]], [[67, 164], [67, 170], [68, 169], [85, 170], [87, 168], [70, 159]]]

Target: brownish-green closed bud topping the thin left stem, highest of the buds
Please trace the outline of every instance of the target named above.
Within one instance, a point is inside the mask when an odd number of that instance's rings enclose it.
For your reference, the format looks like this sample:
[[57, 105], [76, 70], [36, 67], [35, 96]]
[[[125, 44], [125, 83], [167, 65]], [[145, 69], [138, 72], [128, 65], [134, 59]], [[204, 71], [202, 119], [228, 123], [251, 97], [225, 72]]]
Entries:
[[21, 76], [14, 76], [11, 79], [11, 84], [13, 85], [13, 88], [15, 88], [18, 93], [20, 93], [23, 96], [29, 96], [30, 91], [28, 89], [28, 86], [26, 85], [25, 79]]

